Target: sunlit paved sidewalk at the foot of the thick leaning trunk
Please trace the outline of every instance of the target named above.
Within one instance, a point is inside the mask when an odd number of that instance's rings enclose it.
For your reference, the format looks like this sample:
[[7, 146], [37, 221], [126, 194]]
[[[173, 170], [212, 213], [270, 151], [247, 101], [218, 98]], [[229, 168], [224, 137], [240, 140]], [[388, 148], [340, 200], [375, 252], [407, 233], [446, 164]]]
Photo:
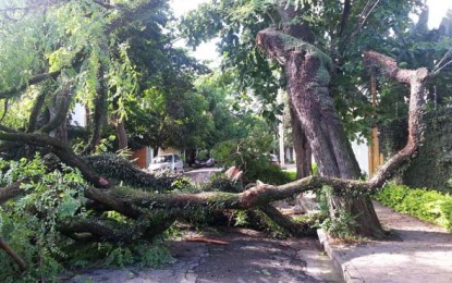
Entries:
[[452, 283], [452, 234], [374, 204], [381, 224], [402, 241], [331, 245], [319, 232], [325, 250], [342, 270], [345, 282]]

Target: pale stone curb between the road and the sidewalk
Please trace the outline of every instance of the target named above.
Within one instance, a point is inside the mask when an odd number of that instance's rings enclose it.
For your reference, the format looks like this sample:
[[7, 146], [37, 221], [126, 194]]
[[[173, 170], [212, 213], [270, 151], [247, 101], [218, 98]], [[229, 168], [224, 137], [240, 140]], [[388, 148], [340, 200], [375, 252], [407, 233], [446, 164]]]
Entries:
[[320, 245], [327, 253], [328, 257], [333, 261], [334, 267], [342, 271], [342, 275], [346, 283], [364, 283], [366, 282], [361, 272], [350, 262], [345, 256], [341, 255], [338, 249], [334, 249], [328, 242], [327, 233], [322, 229], [317, 230], [317, 236]]

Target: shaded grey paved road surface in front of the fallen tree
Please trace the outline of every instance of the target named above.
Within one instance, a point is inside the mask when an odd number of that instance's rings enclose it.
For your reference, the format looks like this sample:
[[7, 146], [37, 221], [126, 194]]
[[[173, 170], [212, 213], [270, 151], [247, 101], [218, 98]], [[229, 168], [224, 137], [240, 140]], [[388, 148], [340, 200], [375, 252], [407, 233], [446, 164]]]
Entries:
[[[194, 235], [188, 235], [188, 237]], [[70, 282], [319, 283], [342, 282], [316, 238], [272, 239], [261, 232], [223, 227], [204, 235], [227, 245], [170, 243], [176, 262], [162, 269], [91, 270]]]

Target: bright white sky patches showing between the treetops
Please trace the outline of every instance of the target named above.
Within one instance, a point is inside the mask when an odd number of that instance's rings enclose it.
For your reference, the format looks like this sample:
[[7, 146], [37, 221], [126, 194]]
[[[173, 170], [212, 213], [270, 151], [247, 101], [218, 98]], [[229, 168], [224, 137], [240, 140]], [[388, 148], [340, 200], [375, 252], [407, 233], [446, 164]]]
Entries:
[[[209, 0], [171, 0], [175, 16], [181, 16], [190, 10], [196, 9], [200, 3]], [[430, 15], [428, 21], [429, 28], [438, 28], [445, 12], [452, 10], [452, 0], [427, 0]], [[215, 41], [200, 45], [193, 53], [198, 60], [216, 60]]]

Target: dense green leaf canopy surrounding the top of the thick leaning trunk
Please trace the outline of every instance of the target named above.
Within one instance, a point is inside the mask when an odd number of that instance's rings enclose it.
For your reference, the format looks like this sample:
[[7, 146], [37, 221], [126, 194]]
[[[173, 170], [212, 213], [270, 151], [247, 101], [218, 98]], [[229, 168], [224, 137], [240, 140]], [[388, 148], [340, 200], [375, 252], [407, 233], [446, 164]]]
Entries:
[[[382, 1], [372, 8], [367, 1], [355, 1], [344, 12], [342, 1], [295, 1], [297, 10], [292, 25], [307, 24], [313, 44], [334, 62], [330, 91], [350, 137], [367, 139], [374, 112], [370, 99], [370, 77], [362, 63], [362, 52], [376, 50], [398, 58], [402, 66], [420, 65], [435, 69], [436, 62], [449, 50], [450, 35], [445, 29], [429, 30], [428, 12], [422, 1]], [[264, 116], [273, 120], [280, 113], [277, 90], [285, 79], [281, 69], [268, 61], [255, 46], [256, 34], [265, 27], [284, 28], [279, 9], [290, 8], [293, 1], [232, 1], [216, 0], [188, 13], [181, 21], [181, 33], [192, 46], [212, 37], [220, 37], [218, 50], [222, 54], [222, 70], [234, 70], [237, 89], [255, 94], [265, 106]], [[422, 14], [415, 24], [410, 14]], [[450, 57], [449, 57], [450, 58]], [[449, 77], [444, 70], [440, 77]], [[398, 83], [378, 76], [380, 93], [378, 118], [390, 119], [407, 114], [407, 90]], [[435, 79], [441, 94], [448, 94], [448, 81]], [[394, 107], [396, 108], [394, 110]]]

